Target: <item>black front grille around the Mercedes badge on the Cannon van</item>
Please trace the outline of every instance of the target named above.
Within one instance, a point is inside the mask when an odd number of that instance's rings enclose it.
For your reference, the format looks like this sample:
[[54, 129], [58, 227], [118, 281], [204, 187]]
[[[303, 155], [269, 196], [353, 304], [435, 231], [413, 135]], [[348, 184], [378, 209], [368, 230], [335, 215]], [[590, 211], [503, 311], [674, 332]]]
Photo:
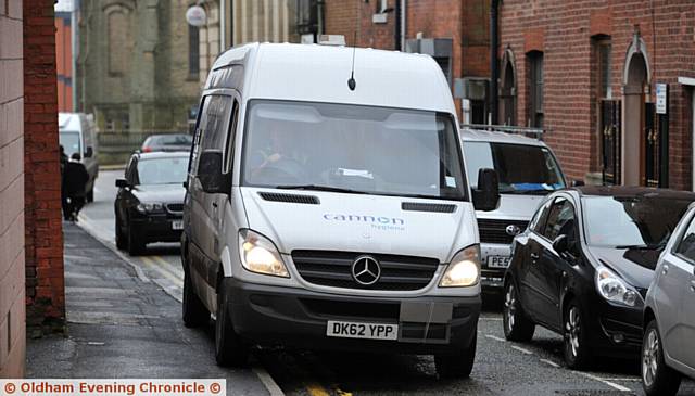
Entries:
[[[365, 255], [375, 258], [381, 270], [379, 279], [369, 285], [358, 283], [352, 276], [353, 263]], [[333, 251], [293, 251], [292, 260], [309, 283], [389, 291], [420, 290], [430, 283], [439, 266], [435, 258]]]

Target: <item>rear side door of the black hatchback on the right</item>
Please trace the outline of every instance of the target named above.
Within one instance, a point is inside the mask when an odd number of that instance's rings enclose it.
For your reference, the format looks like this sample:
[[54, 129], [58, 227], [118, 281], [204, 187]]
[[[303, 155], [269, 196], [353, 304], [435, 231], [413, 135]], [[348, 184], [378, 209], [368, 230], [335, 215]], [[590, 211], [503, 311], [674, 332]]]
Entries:
[[548, 201], [536, 210], [533, 219], [529, 223], [528, 239], [522, 247], [525, 252], [518, 255], [518, 257], [521, 257], [521, 260], [517, 265], [519, 294], [521, 295], [523, 309], [534, 320], [540, 316], [539, 307], [541, 305], [541, 294], [536, 291], [541, 280], [535, 268], [543, 248], [540, 240], [545, 230], [545, 223], [554, 201], [554, 199], [548, 199]]

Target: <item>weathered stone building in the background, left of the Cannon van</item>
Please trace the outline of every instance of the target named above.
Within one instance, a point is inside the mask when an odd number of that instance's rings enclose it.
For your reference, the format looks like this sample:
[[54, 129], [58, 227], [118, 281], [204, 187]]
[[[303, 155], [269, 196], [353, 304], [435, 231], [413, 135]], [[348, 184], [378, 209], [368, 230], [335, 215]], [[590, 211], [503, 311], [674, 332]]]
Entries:
[[187, 130], [219, 52], [219, 8], [188, 25], [188, 0], [80, 1], [78, 108], [100, 130]]

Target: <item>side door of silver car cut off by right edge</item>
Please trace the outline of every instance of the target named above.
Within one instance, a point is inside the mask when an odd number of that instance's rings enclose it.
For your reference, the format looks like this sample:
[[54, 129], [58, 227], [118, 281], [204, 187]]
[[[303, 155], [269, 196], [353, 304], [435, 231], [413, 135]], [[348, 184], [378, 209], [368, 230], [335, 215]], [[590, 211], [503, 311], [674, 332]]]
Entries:
[[690, 221], [661, 266], [657, 309], [668, 354], [695, 370], [695, 220]]

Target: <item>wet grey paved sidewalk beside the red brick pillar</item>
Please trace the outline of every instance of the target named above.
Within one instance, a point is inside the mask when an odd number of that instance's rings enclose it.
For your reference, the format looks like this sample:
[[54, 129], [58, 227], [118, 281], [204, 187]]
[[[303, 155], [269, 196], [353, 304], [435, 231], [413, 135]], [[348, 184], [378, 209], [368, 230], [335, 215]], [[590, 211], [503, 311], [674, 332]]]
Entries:
[[267, 395], [251, 369], [220, 369], [213, 327], [186, 329], [180, 304], [64, 223], [67, 337], [28, 340], [27, 378], [223, 378], [228, 395]]

